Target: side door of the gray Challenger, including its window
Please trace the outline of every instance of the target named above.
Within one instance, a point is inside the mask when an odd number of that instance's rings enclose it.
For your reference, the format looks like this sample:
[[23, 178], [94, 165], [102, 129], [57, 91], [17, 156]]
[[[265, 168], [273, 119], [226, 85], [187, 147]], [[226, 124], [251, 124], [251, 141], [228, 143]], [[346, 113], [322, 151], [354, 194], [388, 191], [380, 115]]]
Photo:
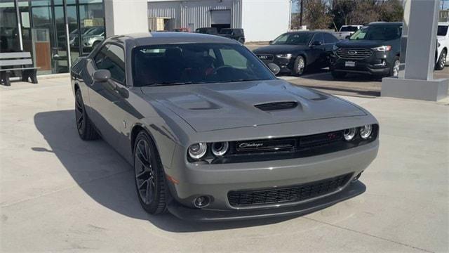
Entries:
[[[91, 62], [91, 71], [109, 70], [111, 78], [107, 82], [91, 82], [89, 99], [91, 120], [100, 131], [102, 138], [117, 148], [123, 138], [123, 122], [126, 115], [120, 105], [126, 102], [125, 53], [118, 44], [105, 44]], [[93, 76], [93, 72], [90, 73]]]

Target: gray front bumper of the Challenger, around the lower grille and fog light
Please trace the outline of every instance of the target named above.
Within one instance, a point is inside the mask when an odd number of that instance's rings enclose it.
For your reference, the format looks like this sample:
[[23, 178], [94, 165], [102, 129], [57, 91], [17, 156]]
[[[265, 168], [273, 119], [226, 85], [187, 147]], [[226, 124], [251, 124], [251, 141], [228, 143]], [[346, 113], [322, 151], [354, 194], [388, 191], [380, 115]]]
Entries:
[[[192, 219], [199, 219], [204, 214], [204, 220], [302, 214], [320, 209], [326, 207], [326, 203], [333, 205], [348, 198], [337, 196], [350, 197], [354, 193], [351, 190], [351, 194], [346, 193], [353, 186], [349, 182], [375, 159], [378, 146], [379, 141], [375, 140], [366, 145], [325, 155], [269, 162], [192, 164], [185, 160], [174, 160], [172, 167], [177, 169], [165, 168], [166, 174], [177, 181], [168, 183], [173, 197], [168, 209], [180, 218], [193, 215]], [[178, 152], [180, 151], [175, 153]], [[181, 153], [185, 154], [184, 151]], [[244, 207], [233, 206], [228, 200], [228, 193], [233, 190], [297, 186], [344, 174], [351, 174], [347, 184], [329, 194], [307, 200]], [[355, 195], [358, 194], [360, 193]], [[201, 195], [207, 195], [213, 201], [208, 207], [196, 209], [193, 205], [194, 199]], [[236, 213], [232, 214], [234, 212]]]

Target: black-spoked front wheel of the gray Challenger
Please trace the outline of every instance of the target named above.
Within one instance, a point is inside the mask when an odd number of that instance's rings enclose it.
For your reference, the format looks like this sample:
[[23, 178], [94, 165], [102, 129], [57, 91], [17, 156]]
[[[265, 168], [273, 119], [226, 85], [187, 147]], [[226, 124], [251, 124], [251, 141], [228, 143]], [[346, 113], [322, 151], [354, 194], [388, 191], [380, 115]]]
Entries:
[[149, 214], [166, 210], [166, 183], [156, 146], [146, 131], [140, 131], [134, 145], [135, 188], [140, 205]]

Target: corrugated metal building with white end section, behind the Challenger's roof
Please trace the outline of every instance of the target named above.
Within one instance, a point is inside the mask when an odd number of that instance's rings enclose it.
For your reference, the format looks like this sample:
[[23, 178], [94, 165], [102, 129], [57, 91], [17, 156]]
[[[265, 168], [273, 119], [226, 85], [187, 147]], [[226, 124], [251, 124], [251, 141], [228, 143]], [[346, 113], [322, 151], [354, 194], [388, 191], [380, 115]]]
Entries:
[[243, 28], [246, 41], [270, 41], [290, 27], [290, 0], [149, 0], [149, 29]]

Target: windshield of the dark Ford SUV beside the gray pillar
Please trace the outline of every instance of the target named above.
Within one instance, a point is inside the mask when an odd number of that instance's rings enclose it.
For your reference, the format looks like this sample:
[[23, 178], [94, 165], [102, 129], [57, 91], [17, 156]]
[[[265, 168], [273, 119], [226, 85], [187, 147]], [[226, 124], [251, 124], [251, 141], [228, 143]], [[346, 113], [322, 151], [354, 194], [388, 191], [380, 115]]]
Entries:
[[401, 27], [373, 25], [362, 27], [349, 37], [350, 40], [393, 40], [401, 37]]

